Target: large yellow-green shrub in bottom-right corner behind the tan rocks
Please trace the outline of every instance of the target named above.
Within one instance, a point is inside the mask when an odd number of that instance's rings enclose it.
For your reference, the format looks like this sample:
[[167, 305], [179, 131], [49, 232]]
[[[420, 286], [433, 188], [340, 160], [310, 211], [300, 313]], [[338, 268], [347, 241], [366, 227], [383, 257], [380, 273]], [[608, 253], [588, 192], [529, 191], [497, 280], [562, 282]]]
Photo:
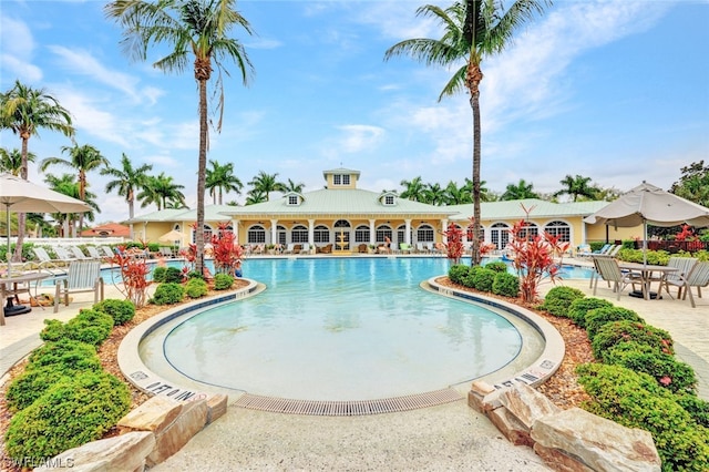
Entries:
[[619, 366], [586, 363], [576, 369], [593, 401], [584, 409], [653, 434], [664, 471], [709, 470], [709, 430], [697, 423], [646, 373]]

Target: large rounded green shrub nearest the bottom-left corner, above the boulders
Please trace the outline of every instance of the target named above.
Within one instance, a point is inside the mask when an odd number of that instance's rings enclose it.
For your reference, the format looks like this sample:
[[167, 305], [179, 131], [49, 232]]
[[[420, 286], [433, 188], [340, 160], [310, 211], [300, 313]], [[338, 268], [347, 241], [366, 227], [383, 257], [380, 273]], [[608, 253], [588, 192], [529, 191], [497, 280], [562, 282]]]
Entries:
[[16, 460], [42, 461], [101, 439], [130, 407], [127, 387], [110, 373], [63, 378], [12, 417], [6, 451]]

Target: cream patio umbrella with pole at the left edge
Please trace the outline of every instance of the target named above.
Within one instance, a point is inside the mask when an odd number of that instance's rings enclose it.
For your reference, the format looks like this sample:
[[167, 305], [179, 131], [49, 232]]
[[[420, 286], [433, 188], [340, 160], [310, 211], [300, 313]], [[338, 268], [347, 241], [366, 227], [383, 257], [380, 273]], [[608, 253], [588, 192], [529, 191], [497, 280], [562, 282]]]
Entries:
[[8, 274], [10, 265], [10, 212], [19, 213], [84, 213], [91, 207], [80, 199], [33, 184], [12, 174], [0, 175], [0, 205], [7, 215]]

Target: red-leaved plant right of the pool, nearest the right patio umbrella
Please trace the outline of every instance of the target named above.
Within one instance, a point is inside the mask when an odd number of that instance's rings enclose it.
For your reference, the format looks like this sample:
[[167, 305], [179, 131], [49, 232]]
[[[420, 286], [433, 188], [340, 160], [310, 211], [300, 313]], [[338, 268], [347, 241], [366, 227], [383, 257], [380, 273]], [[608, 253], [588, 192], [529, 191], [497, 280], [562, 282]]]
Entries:
[[555, 283], [559, 276], [559, 265], [555, 256], [568, 249], [557, 236], [528, 234], [524, 219], [510, 229], [508, 249], [512, 252], [512, 266], [520, 277], [520, 296], [524, 302], [534, 302], [537, 298], [540, 283], [548, 278]]

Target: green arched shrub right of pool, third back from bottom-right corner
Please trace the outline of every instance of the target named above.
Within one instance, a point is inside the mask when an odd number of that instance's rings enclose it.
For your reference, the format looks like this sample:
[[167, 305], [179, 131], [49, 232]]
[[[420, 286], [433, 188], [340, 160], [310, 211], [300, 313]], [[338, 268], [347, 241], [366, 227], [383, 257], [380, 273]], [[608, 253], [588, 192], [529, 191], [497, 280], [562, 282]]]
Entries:
[[602, 326], [590, 340], [590, 348], [596, 359], [603, 359], [605, 351], [626, 341], [650, 346], [658, 352], [675, 353], [669, 332], [643, 322], [627, 320], [610, 321]]

